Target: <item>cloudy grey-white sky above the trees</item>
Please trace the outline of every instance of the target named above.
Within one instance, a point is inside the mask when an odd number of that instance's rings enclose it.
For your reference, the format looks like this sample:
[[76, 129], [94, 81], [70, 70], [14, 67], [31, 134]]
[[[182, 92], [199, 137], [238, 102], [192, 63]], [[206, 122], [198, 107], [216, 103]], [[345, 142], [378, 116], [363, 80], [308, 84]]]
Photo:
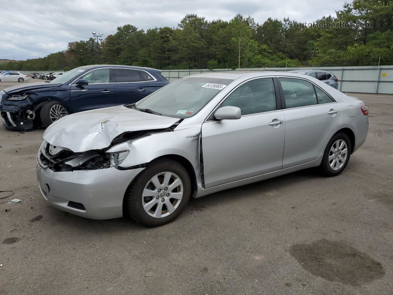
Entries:
[[[347, 0], [348, 1], [348, 0]], [[0, 0], [0, 59], [44, 57], [87, 40], [92, 31], [107, 35], [118, 26], [176, 27], [187, 13], [207, 20], [230, 20], [237, 13], [263, 23], [268, 17], [312, 22], [335, 15], [344, 0]]]

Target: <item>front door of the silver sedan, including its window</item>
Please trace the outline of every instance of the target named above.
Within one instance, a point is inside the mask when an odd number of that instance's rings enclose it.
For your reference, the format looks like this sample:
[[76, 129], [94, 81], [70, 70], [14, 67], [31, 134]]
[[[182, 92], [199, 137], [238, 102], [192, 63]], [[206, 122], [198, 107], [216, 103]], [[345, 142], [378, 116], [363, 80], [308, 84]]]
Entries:
[[243, 83], [220, 105], [239, 107], [241, 118], [202, 124], [205, 188], [281, 169], [285, 121], [276, 93], [272, 78]]

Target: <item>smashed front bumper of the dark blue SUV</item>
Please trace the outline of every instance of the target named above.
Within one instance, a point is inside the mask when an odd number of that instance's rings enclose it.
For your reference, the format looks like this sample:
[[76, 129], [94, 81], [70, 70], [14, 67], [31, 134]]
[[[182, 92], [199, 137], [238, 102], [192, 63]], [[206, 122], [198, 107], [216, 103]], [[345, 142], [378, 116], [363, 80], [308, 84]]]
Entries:
[[0, 108], [3, 127], [17, 131], [33, 129], [35, 118], [33, 102], [30, 99], [23, 101], [3, 100]]

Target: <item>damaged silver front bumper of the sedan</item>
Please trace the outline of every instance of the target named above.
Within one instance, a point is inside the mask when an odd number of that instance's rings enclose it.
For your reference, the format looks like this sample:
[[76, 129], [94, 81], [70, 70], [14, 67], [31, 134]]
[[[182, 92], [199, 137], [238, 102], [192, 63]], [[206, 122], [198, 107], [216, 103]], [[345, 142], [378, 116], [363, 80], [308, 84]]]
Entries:
[[[42, 146], [45, 146], [45, 142]], [[43, 151], [45, 149], [41, 148], [37, 154], [37, 181], [42, 196], [51, 206], [91, 219], [123, 216], [123, 198], [127, 187], [144, 168], [65, 171], [61, 166], [54, 169], [56, 166], [48, 165]], [[69, 160], [66, 165], [73, 167], [78, 161], [83, 162], [91, 157], [92, 153], [86, 152]]]

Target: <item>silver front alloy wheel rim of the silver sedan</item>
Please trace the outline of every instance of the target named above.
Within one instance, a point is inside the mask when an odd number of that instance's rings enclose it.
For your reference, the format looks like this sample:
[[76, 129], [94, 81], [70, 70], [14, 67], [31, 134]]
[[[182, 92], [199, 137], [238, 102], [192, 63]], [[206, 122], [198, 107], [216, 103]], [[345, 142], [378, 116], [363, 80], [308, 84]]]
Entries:
[[166, 217], [180, 205], [183, 197], [182, 180], [172, 172], [154, 175], [142, 193], [142, 206], [154, 218]]

